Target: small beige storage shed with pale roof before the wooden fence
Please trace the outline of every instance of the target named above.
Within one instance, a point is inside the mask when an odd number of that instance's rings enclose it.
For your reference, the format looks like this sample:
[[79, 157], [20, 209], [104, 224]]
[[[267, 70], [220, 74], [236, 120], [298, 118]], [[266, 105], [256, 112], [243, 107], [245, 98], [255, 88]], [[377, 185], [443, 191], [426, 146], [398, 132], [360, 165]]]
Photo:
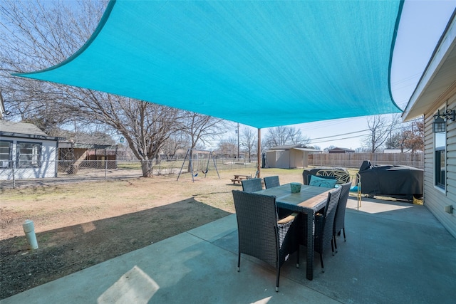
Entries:
[[305, 168], [311, 152], [320, 153], [321, 151], [308, 148], [305, 145], [272, 147], [269, 151], [266, 151], [266, 167], [282, 169]]

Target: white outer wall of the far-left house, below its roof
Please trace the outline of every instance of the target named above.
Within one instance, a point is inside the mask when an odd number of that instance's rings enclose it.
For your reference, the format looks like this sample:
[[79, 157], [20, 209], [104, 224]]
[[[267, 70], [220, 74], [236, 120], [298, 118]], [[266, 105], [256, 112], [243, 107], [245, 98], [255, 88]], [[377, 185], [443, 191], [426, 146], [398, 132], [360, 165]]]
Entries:
[[[18, 142], [33, 142], [41, 143], [41, 167], [24, 167], [14, 168], [15, 179], [35, 179], [45, 177], [56, 177], [56, 151], [57, 141], [53, 140], [38, 140], [38, 139], [27, 139], [18, 137], [7, 137], [2, 136], [1, 140], [11, 141], [11, 155], [14, 164], [17, 161], [17, 143]], [[11, 180], [13, 179], [13, 168], [0, 168], [0, 180]]]

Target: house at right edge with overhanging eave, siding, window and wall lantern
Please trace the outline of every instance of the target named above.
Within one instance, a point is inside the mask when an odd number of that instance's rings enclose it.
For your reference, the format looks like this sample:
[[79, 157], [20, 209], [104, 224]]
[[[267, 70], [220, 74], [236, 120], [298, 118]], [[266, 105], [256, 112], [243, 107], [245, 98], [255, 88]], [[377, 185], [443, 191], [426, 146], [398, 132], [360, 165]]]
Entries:
[[[456, 237], [456, 11], [403, 112], [425, 117], [424, 204]], [[447, 112], [434, 130], [435, 115]], [[443, 118], [443, 117], [440, 117]], [[452, 206], [452, 207], [451, 207]]]

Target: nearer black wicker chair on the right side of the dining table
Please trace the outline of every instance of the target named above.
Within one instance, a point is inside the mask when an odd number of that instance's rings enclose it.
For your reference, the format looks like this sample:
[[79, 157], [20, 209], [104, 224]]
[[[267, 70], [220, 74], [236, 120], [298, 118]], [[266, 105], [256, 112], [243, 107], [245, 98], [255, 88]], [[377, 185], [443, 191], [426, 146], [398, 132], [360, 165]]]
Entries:
[[315, 248], [314, 250], [320, 253], [321, 261], [321, 271], [325, 272], [323, 266], [323, 248], [331, 242], [331, 249], [334, 255], [334, 246], [333, 246], [333, 227], [334, 227], [334, 218], [336, 216], [336, 209], [339, 198], [341, 196], [342, 188], [338, 187], [337, 189], [329, 192], [328, 200], [326, 201], [326, 206], [323, 211], [323, 214], [316, 214], [315, 216]]

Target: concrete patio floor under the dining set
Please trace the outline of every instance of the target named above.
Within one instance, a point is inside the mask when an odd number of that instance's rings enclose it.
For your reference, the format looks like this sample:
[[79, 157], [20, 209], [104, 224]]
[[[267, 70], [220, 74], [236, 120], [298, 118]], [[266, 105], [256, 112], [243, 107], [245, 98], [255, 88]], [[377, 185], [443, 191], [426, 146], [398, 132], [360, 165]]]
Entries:
[[275, 270], [242, 256], [230, 215], [86, 268], [11, 298], [9, 303], [455, 303], [456, 239], [425, 206], [348, 200], [347, 241], [318, 255], [314, 280], [295, 257]]

